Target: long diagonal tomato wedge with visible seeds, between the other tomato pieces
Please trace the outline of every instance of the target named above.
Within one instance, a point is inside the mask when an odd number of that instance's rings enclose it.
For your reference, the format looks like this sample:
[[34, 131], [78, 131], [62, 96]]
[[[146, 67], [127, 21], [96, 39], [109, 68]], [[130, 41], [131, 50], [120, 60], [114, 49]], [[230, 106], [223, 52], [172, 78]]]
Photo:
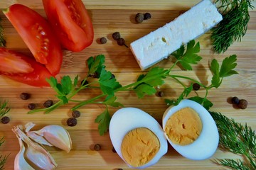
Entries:
[[21, 35], [36, 61], [46, 64], [51, 74], [58, 74], [63, 61], [63, 53], [60, 42], [46, 19], [21, 4], [10, 6], [4, 14]]

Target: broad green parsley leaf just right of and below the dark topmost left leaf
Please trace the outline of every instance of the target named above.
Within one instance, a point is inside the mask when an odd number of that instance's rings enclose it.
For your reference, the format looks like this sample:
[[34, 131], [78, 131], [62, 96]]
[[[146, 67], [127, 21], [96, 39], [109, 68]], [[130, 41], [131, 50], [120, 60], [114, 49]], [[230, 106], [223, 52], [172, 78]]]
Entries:
[[114, 96], [114, 90], [122, 87], [117, 79], [112, 78], [112, 73], [107, 72], [105, 69], [102, 69], [99, 79], [100, 89], [104, 94]]

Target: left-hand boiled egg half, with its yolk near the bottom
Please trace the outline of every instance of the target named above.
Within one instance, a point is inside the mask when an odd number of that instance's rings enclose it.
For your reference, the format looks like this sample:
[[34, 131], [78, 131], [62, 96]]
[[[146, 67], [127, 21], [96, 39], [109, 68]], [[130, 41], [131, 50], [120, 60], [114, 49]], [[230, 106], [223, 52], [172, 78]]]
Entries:
[[167, 152], [161, 125], [139, 108], [121, 108], [110, 120], [110, 139], [119, 157], [132, 168], [156, 164]]

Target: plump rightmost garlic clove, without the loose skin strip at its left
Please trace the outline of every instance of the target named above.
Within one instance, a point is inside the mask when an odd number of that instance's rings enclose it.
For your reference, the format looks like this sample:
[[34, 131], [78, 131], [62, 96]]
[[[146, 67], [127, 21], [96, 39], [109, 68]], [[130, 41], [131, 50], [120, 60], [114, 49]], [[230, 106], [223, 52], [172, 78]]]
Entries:
[[43, 136], [51, 145], [70, 152], [72, 141], [67, 130], [59, 125], [47, 125], [41, 130], [31, 131]]

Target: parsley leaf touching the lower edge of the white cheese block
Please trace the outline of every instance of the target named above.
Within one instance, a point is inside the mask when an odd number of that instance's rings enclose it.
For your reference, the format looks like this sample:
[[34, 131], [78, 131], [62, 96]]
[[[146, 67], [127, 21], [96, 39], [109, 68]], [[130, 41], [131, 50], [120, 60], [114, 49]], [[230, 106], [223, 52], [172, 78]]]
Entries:
[[196, 53], [200, 52], [200, 44], [199, 42], [197, 42], [195, 45], [195, 40], [191, 40], [190, 42], [188, 42], [185, 53], [184, 49], [185, 47], [184, 45], [182, 45], [171, 55], [176, 57], [176, 60], [178, 60], [183, 69], [192, 70], [191, 64], [198, 64], [198, 62], [202, 59], [202, 57], [196, 55]]

